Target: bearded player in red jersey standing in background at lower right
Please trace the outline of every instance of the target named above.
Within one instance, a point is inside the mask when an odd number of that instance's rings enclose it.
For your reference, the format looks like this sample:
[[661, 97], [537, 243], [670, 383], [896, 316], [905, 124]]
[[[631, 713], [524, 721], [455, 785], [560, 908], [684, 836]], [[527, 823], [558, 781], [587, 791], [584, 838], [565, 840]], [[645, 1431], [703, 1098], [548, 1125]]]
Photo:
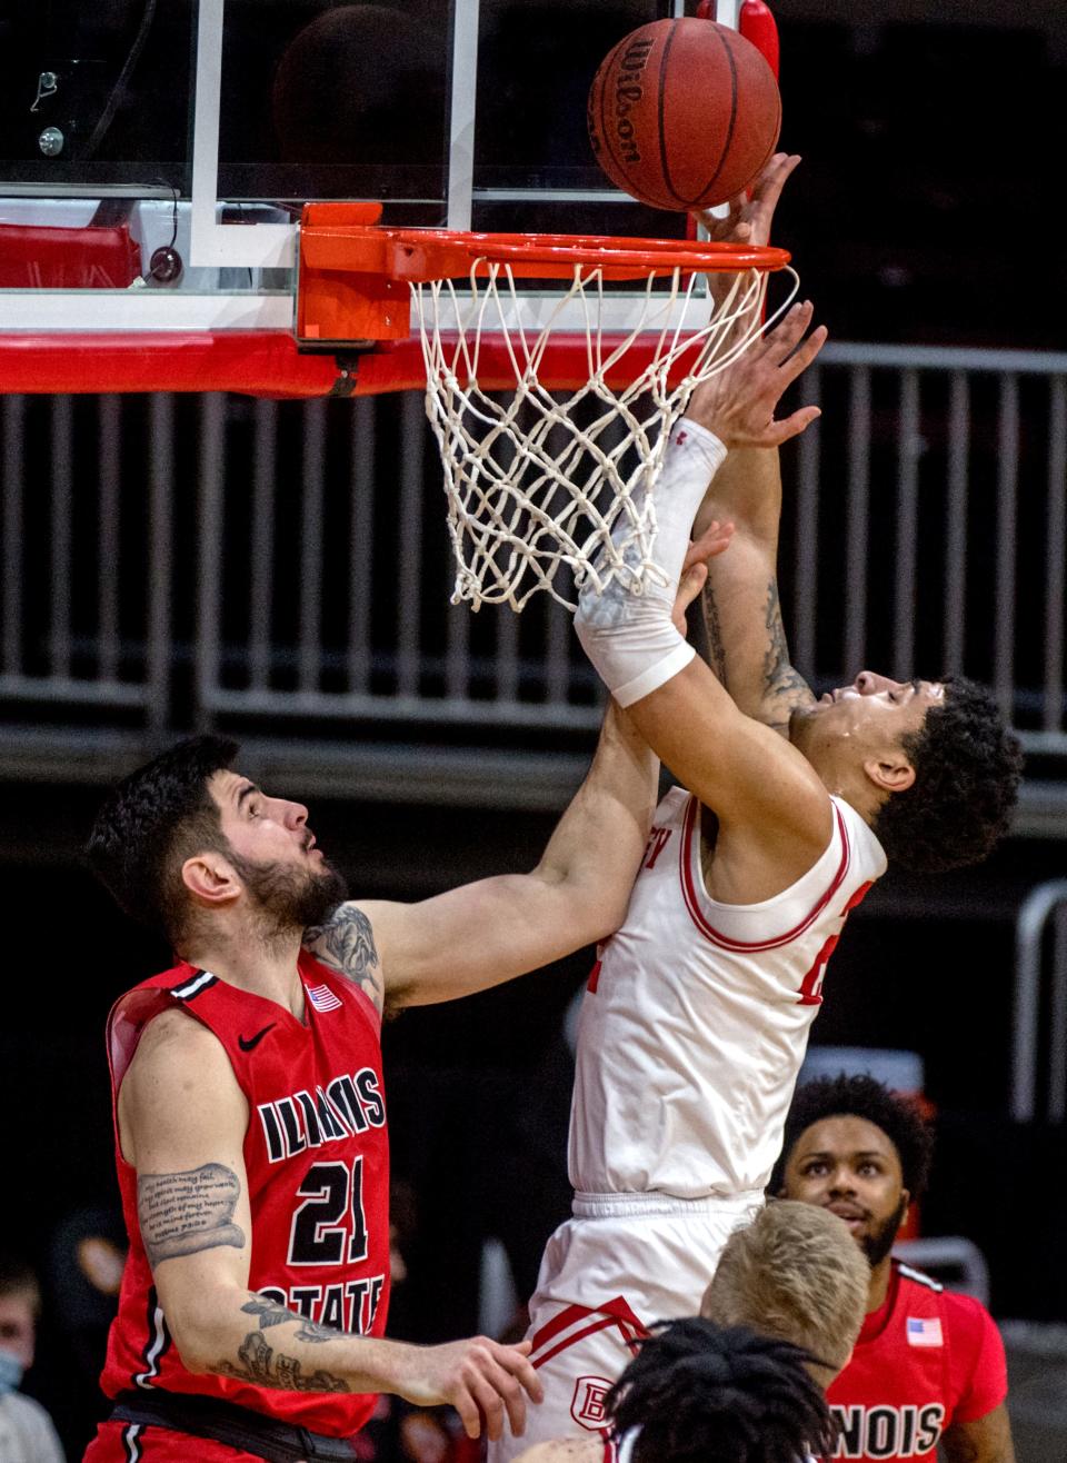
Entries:
[[893, 1260], [931, 1137], [915, 1106], [871, 1077], [796, 1093], [771, 1189], [820, 1204], [852, 1229], [871, 1265], [866, 1320], [828, 1390], [842, 1435], [833, 1457], [1014, 1463], [1004, 1344], [978, 1301]]

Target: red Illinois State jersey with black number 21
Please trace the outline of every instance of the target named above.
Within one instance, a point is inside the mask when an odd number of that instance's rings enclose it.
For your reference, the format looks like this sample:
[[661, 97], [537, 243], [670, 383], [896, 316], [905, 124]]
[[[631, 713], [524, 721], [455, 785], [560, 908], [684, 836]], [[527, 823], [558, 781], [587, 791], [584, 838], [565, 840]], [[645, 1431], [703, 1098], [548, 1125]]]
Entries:
[[[130, 1236], [119, 1314], [101, 1385], [224, 1397], [313, 1432], [350, 1437], [375, 1397], [256, 1387], [193, 1375], [181, 1365], [158, 1304], [138, 1226], [138, 1175], [119, 1147], [119, 1087], [145, 1026], [179, 1005], [222, 1043], [247, 1097], [244, 1134], [252, 1210], [249, 1289], [342, 1331], [381, 1336], [389, 1290], [389, 1150], [381, 1018], [367, 996], [306, 951], [299, 961], [304, 1023], [274, 1001], [180, 964], [121, 996], [108, 1020], [116, 1163]], [[255, 1321], [249, 1321], [255, 1331]], [[269, 1365], [269, 1333], [258, 1333]]]

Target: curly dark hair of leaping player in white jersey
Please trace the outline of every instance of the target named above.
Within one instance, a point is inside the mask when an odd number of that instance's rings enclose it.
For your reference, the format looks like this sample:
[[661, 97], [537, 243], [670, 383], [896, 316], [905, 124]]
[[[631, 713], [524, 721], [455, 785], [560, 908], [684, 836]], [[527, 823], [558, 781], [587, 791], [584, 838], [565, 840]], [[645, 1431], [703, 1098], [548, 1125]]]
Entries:
[[940, 873], [981, 863], [1007, 832], [1023, 753], [985, 686], [944, 676], [943, 705], [903, 739], [915, 783], [878, 811], [874, 832], [890, 863]]

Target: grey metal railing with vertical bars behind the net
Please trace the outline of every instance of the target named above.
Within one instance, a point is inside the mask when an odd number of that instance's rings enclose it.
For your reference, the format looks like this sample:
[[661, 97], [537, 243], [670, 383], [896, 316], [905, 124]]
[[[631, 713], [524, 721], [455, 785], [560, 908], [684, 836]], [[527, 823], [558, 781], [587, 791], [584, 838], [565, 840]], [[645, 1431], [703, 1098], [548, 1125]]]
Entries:
[[[782, 554], [799, 669], [963, 670], [1027, 751], [1067, 756], [1067, 356], [837, 345], [805, 391], [824, 417], [786, 459]], [[496, 729], [537, 755], [599, 721], [559, 606], [448, 603], [414, 395], [9, 396], [0, 432], [9, 761], [220, 721], [325, 751], [341, 718], [345, 740]]]

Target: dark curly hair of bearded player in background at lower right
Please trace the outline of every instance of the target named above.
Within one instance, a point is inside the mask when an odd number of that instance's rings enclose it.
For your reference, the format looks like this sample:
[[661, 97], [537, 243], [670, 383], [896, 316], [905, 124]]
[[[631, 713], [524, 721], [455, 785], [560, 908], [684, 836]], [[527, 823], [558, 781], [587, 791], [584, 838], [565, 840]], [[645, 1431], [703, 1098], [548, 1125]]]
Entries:
[[929, 1182], [934, 1129], [910, 1097], [893, 1091], [865, 1072], [818, 1077], [796, 1088], [786, 1118], [782, 1153], [771, 1170], [767, 1192], [782, 1191], [789, 1154], [812, 1124], [823, 1122], [824, 1118], [846, 1116], [865, 1118], [881, 1128], [897, 1150], [905, 1188], [913, 1200], [921, 1198]]

